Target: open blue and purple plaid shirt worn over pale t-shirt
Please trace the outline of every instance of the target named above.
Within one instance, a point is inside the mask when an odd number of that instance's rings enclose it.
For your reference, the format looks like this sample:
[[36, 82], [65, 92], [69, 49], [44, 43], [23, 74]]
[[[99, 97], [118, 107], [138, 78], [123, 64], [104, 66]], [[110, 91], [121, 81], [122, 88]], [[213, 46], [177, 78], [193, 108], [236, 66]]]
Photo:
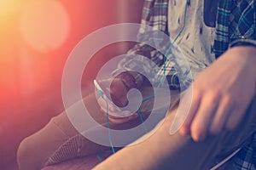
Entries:
[[[143, 7], [143, 16], [141, 23], [143, 25], [152, 26], [154, 30], [163, 31], [168, 34], [167, 30], [167, 14], [168, 0], [145, 0]], [[256, 29], [255, 29], [255, 0], [221, 0], [218, 4], [217, 20], [216, 20], [216, 36], [214, 40], [213, 52], [216, 58], [224, 53], [229, 48], [230, 43], [235, 41], [253, 42], [256, 44]], [[134, 65], [144, 67], [144, 71], [154, 72], [152, 64], [145, 61], [143, 58], [134, 61], [132, 54], [140, 54], [147, 56], [148, 59], [154, 61], [156, 65], [163, 65], [164, 57], [155, 48], [143, 43], [149, 42], [152, 37], [147, 36], [145, 27], [141, 27], [138, 33], [138, 40], [134, 48], [128, 52], [131, 58], [124, 59], [119, 63], [119, 68], [131, 68]], [[159, 40], [158, 40], [159, 41]], [[163, 44], [164, 45], [164, 44]], [[137, 63], [137, 64], [134, 64]], [[174, 70], [169, 74], [175, 75]], [[154, 72], [156, 75], [156, 71]], [[154, 79], [159, 82], [158, 78]], [[178, 88], [179, 83], [172, 78], [171, 87]], [[250, 145], [242, 148], [232, 159], [236, 169], [255, 169], [256, 167], [256, 133]], [[253, 166], [254, 163], [254, 166]], [[235, 168], [234, 167], [234, 168]]]

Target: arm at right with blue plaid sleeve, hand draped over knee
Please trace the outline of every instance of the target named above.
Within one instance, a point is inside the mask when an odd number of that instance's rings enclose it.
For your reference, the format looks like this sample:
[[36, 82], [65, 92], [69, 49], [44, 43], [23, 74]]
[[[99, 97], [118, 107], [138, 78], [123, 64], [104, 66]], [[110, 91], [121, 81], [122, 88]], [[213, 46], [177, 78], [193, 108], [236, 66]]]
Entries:
[[255, 95], [255, 3], [251, 0], [246, 4], [233, 4], [230, 48], [190, 87], [194, 94], [192, 106], [180, 132], [191, 134], [195, 140], [235, 128]]

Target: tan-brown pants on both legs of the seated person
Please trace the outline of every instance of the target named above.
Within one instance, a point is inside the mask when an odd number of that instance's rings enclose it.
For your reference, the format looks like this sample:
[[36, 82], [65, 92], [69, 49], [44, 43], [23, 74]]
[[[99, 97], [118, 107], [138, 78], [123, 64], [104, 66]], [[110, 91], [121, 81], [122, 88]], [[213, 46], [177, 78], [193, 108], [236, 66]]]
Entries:
[[[106, 124], [96, 104], [95, 95], [84, 98], [84, 104], [97, 122]], [[256, 129], [256, 98], [247, 110], [247, 115], [236, 130], [224, 131], [217, 136], [208, 137], [200, 143], [179, 133], [169, 134], [174, 114], [171, 111], [157, 131], [141, 143], [126, 146], [95, 169], [205, 169], [216, 157], [230, 153], [246, 144]], [[136, 126], [139, 120], [114, 128]], [[86, 156], [106, 150], [108, 147], [85, 139], [69, 122], [67, 114], [55, 116], [38, 133], [27, 137], [20, 143], [17, 153], [20, 170], [38, 170], [50, 164], [73, 157]]]

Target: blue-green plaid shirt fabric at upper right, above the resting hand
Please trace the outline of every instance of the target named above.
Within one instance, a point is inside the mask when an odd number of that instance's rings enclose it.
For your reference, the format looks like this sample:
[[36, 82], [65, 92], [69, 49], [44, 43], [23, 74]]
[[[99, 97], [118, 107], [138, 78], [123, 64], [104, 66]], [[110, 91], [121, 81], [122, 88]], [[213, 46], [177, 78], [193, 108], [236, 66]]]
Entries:
[[214, 53], [216, 58], [233, 41], [255, 40], [255, 0], [222, 0], [218, 4]]

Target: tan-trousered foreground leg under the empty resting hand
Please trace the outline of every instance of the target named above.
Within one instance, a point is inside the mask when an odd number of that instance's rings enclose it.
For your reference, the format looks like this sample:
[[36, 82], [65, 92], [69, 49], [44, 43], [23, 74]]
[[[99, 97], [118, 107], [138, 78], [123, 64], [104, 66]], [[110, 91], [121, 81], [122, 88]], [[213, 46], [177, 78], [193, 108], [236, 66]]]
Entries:
[[169, 134], [176, 112], [173, 110], [155, 133], [137, 144], [125, 147], [95, 169], [206, 169], [216, 156], [247, 143], [256, 129], [255, 111], [256, 98], [235, 130], [224, 131], [195, 143], [188, 136]]

